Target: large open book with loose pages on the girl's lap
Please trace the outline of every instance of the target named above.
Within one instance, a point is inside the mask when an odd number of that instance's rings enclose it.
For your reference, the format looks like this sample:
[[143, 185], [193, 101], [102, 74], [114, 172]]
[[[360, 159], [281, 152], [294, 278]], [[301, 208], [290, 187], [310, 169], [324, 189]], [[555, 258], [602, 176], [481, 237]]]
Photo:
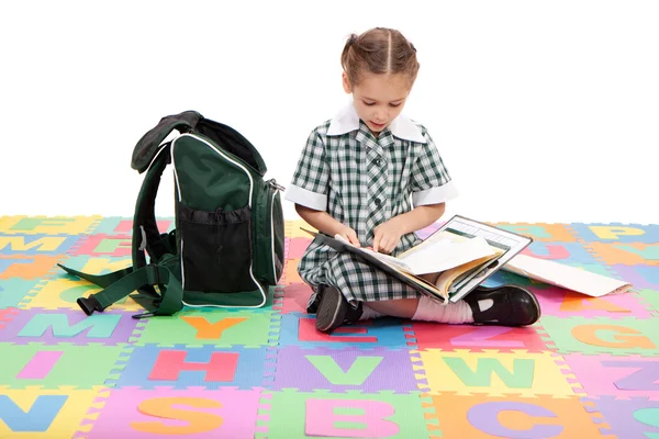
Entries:
[[420, 245], [392, 257], [340, 236], [306, 230], [442, 302], [457, 302], [532, 243], [532, 238], [456, 215]]

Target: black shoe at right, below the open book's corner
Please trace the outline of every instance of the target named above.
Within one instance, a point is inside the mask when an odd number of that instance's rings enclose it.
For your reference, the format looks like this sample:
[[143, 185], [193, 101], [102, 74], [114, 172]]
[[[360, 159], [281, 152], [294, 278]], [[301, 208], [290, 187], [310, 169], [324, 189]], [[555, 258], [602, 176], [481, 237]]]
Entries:
[[[480, 311], [478, 302], [490, 299], [493, 304]], [[540, 304], [535, 294], [518, 285], [477, 286], [466, 297], [476, 325], [528, 326], [540, 318]]]

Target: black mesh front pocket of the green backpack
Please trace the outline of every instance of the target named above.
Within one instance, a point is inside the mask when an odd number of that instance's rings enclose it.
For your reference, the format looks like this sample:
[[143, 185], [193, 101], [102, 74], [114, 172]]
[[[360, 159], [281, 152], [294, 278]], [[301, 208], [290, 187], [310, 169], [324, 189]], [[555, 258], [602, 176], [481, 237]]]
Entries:
[[236, 293], [256, 289], [252, 278], [252, 210], [215, 212], [179, 203], [183, 289]]

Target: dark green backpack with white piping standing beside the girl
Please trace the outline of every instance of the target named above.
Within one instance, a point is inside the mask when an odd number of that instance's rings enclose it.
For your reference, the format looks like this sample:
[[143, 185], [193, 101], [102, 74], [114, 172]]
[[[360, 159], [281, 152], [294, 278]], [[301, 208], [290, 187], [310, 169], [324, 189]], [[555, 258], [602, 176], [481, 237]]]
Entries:
[[[164, 143], [175, 130], [179, 135]], [[176, 223], [163, 233], [154, 206], [169, 164]], [[265, 305], [283, 269], [283, 188], [264, 179], [267, 168], [256, 148], [235, 130], [187, 111], [147, 132], [131, 167], [146, 172], [133, 218], [132, 267], [89, 274], [59, 264], [103, 289], [78, 299], [82, 311], [102, 312], [129, 295], [146, 309], [134, 318], [172, 315], [183, 306]]]

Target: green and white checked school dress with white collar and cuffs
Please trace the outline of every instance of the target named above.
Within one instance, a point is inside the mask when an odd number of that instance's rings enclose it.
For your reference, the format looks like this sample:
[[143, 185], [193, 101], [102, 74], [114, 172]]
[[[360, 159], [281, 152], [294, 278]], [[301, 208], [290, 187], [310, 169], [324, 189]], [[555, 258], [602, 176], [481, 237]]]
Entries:
[[[423, 125], [401, 114], [375, 137], [350, 101], [312, 131], [284, 198], [326, 211], [351, 227], [366, 247], [372, 246], [379, 224], [414, 206], [443, 203], [456, 195]], [[415, 233], [406, 234], [391, 255], [420, 243]], [[310, 303], [321, 284], [337, 288], [354, 305], [420, 295], [395, 278], [315, 239], [299, 261], [298, 272], [314, 291]]]

